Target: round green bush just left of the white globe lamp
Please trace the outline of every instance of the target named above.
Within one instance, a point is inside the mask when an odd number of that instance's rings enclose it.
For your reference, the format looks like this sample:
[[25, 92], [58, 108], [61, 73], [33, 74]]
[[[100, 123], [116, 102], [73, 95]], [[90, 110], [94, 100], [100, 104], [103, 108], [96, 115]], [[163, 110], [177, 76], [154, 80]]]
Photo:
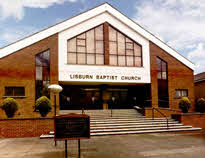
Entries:
[[45, 117], [51, 111], [51, 101], [42, 96], [36, 100], [36, 110], [39, 110], [42, 117]]

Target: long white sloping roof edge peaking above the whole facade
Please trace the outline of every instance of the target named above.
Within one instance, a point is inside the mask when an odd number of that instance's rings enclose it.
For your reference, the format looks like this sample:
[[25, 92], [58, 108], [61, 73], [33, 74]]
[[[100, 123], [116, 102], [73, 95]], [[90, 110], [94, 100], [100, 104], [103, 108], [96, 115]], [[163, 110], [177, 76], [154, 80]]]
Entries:
[[149, 41], [152, 41], [154, 44], [165, 50], [168, 54], [178, 59], [180, 62], [182, 62], [184, 65], [189, 67], [190, 69], [194, 70], [194, 64], [186, 59], [184, 56], [176, 52], [174, 49], [169, 47], [166, 43], [162, 42], [160, 39], [152, 35], [150, 32], [142, 28], [140, 25], [123, 15], [121, 12], [119, 12], [117, 9], [113, 8], [108, 3], [104, 3], [98, 7], [95, 7], [91, 10], [88, 10], [82, 14], [79, 14], [77, 16], [74, 16], [68, 20], [65, 20], [61, 23], [58, 23], [54, 26], [51, 26], [47, 29], [44, 29], [38, 33], [35, 33], [31, 36], [28, 36], [22, 40], [19, 40], [13, 44], [10, 44], [6, 47], [3, 47], [0, 49], [0, 58], [3, 58], [9, 54], [12, 54], [22, 48], [25, 48], [31, 44], [34, 44], [42, 39], [45, 39], [51, 35], [54, 35], [56, 33], [62, 32], [70, 27], [73, 27], [79, 23], [82, 23], [83, 21], [86, 21], [90, 18], [93, 18], [97, 15], [100, 15], [102, 13], [109, 13], [116, 19], [120, 20], [122, 23], [125, 23], [128, 27], [139, 33], [141, 36], [146, 38]]

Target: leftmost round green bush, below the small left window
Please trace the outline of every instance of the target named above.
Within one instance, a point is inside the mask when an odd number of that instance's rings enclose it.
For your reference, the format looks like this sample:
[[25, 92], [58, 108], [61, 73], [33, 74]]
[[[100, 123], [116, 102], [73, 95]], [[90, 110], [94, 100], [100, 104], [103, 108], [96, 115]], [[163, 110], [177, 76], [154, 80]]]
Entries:
[[5, 111], [7, 117], [11, 118], [18, 110], [18, 103], [13, 98], [6, 98], [4, 99], [1, 108]]

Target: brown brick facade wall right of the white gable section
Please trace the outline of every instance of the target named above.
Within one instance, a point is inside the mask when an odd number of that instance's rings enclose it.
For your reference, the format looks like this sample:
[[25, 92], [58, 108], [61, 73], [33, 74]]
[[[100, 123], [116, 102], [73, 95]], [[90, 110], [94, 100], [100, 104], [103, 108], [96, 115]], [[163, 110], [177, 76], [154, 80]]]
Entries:
[[158, 84], [157, 84], [157, 57], [160, 57], [168, 64], [168, 93], [169, 108], [179, 109], [179, 98], [175, 96], [176, 89], [187, 89], [191, 101], [190, 111], [194, 111], [194, 75], [193, 70], [182, 64], [176, 58], [170, 56], [164, 50], [150, 42], [150, 64], [151, 64], [151, 94], [152, 106], [158, 107]]

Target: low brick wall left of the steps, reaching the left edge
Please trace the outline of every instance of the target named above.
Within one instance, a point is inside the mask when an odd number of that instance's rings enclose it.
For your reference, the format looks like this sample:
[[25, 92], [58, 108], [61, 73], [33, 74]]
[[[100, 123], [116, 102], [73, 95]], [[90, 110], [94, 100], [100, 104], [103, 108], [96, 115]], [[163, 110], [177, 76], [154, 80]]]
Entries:
[[53, 130], [53, 118], [0, 119], [0, 138], [39, 137]]

